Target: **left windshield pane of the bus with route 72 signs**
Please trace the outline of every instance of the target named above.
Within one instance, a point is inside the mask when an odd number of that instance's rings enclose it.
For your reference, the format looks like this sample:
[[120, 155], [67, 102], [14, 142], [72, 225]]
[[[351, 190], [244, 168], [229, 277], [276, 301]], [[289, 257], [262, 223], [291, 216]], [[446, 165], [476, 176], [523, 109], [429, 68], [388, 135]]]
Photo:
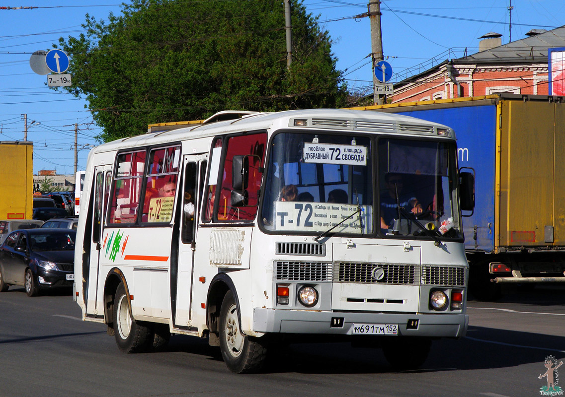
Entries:
[[281, 232], [373, 232], [371, 140], [279, 133], [271, 145], [263, 226]]

